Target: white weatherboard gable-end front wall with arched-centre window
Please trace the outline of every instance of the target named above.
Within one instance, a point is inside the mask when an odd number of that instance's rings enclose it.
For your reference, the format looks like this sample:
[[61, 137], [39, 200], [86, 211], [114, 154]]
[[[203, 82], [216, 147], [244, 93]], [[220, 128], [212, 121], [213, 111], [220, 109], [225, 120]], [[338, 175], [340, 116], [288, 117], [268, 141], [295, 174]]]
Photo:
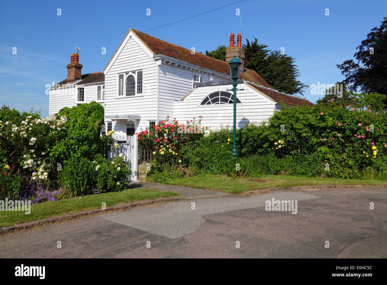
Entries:
[[[144, 130], [148, 126], [148, 120], [156, 121], [156, 90], [157, 90], [157, 65], [153, 61], [152, 54], [137, 37], [130, 37], [128, 33], [122, 43], [122, 49], [113, 57], [114, 62], [105, 71], [105, 116], [112, 115], [140, 115], [141, 119], [134, 122], [137, 131]], [[117, 74], [142, 70], [142, 94], [135, 96], [117, 97]], [[136, 83], [137, 83], [137, 78]], [[125, 90], [124, 90], [125, 93]], [[110, 120], [106, 120], [109, 122]], [[124, 127], [125, 121], [120, 121]], [[121, 125], [113, 121], [113, 130], [116, 135]], [[124, 135], [124, 131], [122, 130]]]

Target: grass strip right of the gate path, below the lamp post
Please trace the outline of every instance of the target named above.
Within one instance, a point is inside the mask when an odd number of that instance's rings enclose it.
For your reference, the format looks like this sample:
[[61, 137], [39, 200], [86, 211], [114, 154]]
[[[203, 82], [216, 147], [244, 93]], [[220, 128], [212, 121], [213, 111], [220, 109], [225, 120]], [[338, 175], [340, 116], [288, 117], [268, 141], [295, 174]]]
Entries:
[[247, 181], [253, 178], [231, 178], [227, 176], [214, 176], [211, 174], [198, 175], [194, 177], [179, 178], [166, 181], [166, 184], [189, 186], [238, 194], [245, 191], [268, 188], [268, 187], [292, 187], [303, 185], [386, 185], [387, 181], [380, 180], [351, 180], [339, 178], [316, 178], [290, 175], [262, 175], [259, 180], [266, 182]]

